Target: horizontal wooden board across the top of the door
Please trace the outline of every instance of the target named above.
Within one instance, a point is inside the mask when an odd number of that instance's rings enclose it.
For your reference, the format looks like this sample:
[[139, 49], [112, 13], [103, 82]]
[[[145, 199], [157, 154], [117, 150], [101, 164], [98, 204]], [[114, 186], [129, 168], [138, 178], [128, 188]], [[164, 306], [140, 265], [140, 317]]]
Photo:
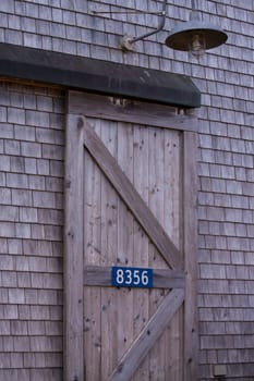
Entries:
[[[85, 112], [84, 112], [85, 110]], [[85, 93], [70, 91], [69, 112], [155, 127], [196, 131], [196, 119], [178, 108]]]

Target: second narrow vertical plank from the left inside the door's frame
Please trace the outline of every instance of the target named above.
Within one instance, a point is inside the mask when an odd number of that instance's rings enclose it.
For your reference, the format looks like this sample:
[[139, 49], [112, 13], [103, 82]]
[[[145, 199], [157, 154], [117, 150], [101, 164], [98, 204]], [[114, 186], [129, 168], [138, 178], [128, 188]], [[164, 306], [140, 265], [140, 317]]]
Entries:
[[[116, 158], [118, 155], [117, 123], [104, 121], [101, 140]], [[108, 180], [101, 177], [101, 266], [112, 266], [118, 258], [118, 195]], [[118, 361], [117, 292], [101, 288], [101, 369], [107, 379]]]

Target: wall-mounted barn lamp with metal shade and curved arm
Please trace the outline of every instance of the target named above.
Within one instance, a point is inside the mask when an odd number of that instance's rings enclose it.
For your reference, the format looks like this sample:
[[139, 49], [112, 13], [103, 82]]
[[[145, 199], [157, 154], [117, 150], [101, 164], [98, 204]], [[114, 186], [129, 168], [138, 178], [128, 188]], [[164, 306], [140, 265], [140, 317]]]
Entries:
[[[165, 26], [167, 0], [164, 0], [161, 19], [156, 30], [138, 37], [124, 36], [121, 46], [125, 51], [132, 51], [136, 41], [160, 32]], [[190, 21], [181, 22], [169, 33], [165, 44], [167, 47], [181, 51], [190, 51], [195, 57], [201, 57], [208, 49], [219, 47], [228, 39], [227, 34], [217, 25], [201, 21], [199, 14], [192, 0]]]

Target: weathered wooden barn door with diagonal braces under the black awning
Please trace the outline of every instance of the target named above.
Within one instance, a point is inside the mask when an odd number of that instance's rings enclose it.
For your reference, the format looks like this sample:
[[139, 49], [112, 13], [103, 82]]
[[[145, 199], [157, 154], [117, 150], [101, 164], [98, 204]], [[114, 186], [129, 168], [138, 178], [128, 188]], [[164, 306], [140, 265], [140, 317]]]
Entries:
[[[65, 380], [195, 380], [195, 119], [71, 91]], [[153, 269], [153, 288], [111, 268]]]

